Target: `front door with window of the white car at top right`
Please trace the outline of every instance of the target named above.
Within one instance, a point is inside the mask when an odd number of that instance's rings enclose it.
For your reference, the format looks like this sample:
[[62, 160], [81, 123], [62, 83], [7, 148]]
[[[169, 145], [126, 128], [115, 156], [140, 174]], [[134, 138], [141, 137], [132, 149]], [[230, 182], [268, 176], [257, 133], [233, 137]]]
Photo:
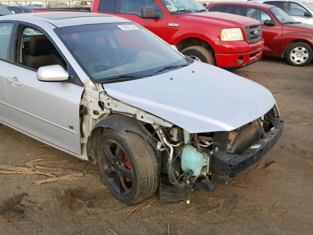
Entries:
[[310, 12], [304, 6], [300, 5], [297, 2], [285, 2], [285, 11], [297, 22], [307, 24], [310, 24], [312, 22], [312, 17], [308, 17], [305, 15], [308, 13], [310, 14]]

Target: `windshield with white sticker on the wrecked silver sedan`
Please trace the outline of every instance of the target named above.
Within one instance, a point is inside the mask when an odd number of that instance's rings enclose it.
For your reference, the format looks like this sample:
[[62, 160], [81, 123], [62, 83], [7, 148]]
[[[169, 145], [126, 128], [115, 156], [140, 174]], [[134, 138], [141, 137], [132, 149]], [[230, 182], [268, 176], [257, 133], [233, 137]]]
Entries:
[[94, 82], [136, 79], [188, 65], [179, 52], [132, 23], [77, 25], [55, 32]]

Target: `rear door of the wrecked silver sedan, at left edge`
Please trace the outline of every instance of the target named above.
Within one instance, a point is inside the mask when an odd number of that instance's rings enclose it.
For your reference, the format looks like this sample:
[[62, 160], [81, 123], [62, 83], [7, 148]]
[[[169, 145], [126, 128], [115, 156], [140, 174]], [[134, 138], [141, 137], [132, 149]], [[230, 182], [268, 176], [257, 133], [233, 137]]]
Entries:
[[5, 77], [9, 63], [10, 40], [14, 23], [0, 21], [0, 122], [13, 125], [9, 100], [5, 89]]

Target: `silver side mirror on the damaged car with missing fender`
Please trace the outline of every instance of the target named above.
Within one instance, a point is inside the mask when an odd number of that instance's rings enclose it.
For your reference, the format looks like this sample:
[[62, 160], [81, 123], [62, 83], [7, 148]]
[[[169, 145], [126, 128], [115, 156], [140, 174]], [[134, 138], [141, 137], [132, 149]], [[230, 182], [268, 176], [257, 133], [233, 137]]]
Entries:
[[61, 65], [43, 66], [37, 71], [37, 79], [43, 82], [65, 82], [68, 80], [68, 72]]

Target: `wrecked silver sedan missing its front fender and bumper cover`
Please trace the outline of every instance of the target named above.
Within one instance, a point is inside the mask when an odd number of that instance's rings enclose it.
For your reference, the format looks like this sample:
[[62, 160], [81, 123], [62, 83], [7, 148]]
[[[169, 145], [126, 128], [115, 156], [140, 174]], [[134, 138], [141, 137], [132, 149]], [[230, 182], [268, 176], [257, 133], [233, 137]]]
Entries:
[[266, 88], [120, 17], [2, 16], [0, 45], [0, 122], [98, 164], [126, 204], [211, 190], [213, 171], [242, 173], [283, 131]]

